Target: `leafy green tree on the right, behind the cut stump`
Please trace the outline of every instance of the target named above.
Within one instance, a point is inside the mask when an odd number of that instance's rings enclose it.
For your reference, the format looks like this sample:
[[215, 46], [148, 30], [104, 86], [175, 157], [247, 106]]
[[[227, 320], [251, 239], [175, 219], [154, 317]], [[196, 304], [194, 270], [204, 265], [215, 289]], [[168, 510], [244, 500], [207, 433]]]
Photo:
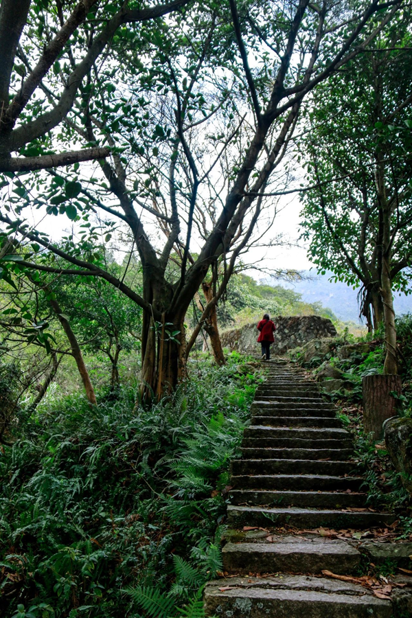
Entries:
[[333, 87], [319, 89], [305, 140], [303, 237], [311, 259], [361, 284], [369, 330], [385, 323], [385, 372], [396, 374], [392, 288], [411, 291], [412, 159], [409, 12]]

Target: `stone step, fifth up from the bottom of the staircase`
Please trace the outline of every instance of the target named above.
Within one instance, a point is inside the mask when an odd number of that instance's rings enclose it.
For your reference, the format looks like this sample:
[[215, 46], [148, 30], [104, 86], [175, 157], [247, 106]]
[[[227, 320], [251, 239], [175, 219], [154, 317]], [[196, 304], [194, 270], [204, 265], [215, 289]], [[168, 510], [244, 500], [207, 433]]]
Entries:
[[238, 490], [290, 490], [358, 492], [362, 477], [338, 477], [334, 474], [233, 474], [231, 485]]

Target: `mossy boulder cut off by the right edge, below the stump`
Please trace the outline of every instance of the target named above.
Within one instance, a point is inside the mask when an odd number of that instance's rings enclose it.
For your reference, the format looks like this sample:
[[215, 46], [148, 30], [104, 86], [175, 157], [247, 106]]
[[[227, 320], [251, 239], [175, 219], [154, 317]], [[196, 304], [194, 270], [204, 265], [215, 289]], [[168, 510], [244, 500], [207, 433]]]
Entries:
[[393, 417], [385, 422], [385, 444], [404, 488], [412, 494], [412, 418]]

